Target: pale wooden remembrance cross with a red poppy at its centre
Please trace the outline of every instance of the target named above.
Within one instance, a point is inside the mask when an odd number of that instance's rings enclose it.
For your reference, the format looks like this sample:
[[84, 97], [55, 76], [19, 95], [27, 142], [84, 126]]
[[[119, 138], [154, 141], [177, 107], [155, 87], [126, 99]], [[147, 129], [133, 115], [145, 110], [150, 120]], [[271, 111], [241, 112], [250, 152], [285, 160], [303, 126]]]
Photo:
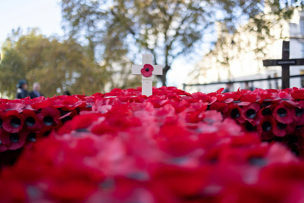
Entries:
[[[152, 65], [152, 54], [143, 54], [143, 64], [141, 65], [132, 65], [132, 75], [142, 75], [141, 71], [149, 71], [149, 68], [143, 69], [145, 64], [150, 64]], [[163, 74], [163, 66], [161, 65], [152, 65], [153, 66], [153, 71], [152, 75], [149, 77], [145, 77], [142, 75], [142, 80], [141, 80], [141, 94], [150, 96], [152, 95], [152, 77], [153, 75], [162, 75]], [[142, 70], [143, 69], [143, 70]]]

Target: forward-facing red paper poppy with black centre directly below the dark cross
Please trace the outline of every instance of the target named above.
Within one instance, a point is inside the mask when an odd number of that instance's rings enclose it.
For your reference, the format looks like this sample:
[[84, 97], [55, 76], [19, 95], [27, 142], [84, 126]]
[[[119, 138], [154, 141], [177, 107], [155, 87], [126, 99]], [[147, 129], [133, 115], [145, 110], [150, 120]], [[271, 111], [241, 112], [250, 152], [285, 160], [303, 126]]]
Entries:
[[283, 101], [275, 108], [272, 115], [278, 122], [292, 123], [295, 117], [295, 107], [288, 102]]

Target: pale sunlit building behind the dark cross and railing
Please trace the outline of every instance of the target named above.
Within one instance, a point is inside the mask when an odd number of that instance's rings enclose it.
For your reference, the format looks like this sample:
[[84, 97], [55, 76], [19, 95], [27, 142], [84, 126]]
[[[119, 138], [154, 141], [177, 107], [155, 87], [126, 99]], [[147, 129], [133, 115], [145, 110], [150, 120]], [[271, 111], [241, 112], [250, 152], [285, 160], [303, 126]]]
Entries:
[[[271, 19], [269, 19], [271, 21]], [[249, 22], [250, 23], [250, 22]], [[281, 77], [282, 67], [263, 67], [263, 59], [281, 59], [282, 41], [290, 41], [290, 58], [304, 57], [304, 13], [295, 10], [290, 21], [274, 23], [270, 29], [271, 37], [257, 41], [253, 27], [242, 26], [237, 33], [230, 34], [225, 26], [217, 22], [218, 41], [213, 50], [207, 53], [189, 75], [187, 84], [208, 84], [214, 82], [254, 80], [268, 77]], [[263, 32], [263, 30], [262, 30]], [[290, 75], [304, 74], [304, 66], [290, 66]], [[254, 81], [254, 88], [279, 89], [281, 80]], [[186, 86], [188, 92], [212, 92], [226, 84]], [[290, 87], [304, 87], [304, 78], [290, 79]], [[245, 88], [245, 83], [233, 83], [230, 91]]]

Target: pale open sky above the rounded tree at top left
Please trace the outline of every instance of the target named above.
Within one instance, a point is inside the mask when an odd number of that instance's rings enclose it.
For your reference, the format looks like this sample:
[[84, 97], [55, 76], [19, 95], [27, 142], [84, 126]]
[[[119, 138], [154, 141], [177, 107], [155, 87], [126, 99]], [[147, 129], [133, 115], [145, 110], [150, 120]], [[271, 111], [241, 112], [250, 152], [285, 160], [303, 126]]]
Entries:
[[58, 0], [0, 0], [0, 43], [12, 29], [37, 27], [46, 36], [64, 34]]

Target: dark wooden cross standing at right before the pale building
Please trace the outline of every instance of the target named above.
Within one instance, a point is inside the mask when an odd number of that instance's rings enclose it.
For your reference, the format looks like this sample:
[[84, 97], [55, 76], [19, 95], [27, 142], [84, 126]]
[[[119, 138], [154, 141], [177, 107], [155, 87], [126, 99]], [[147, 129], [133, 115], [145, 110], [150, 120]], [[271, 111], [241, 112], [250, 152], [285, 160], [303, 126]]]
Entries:
[[304, 65], [304, 59], [289, 59], [289, 41], [283, 41], [282, 59], [263, 60], [264, 66], [282, 66], [282, 89], [289, 88], [289, 66]]

